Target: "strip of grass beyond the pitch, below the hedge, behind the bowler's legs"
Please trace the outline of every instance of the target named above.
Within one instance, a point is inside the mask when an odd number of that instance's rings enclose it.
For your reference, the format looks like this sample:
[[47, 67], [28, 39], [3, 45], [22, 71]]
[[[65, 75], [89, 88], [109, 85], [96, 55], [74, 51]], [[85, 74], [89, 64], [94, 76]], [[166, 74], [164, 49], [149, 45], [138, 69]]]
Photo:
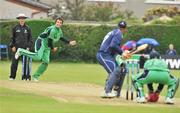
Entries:
[[[17, 80], [21, 79], [22, 65], [19, 62]], [[10, 62], [1, 62], [0, 79], [7, 80], [10, 73]], [[40, 63], [33, 62], [34, 73]], [[46, 72], [40, 77], [41, 81], [51, 82], [83, 82], [103, 85], [106, 72], [96, 64], [50, 63]]]

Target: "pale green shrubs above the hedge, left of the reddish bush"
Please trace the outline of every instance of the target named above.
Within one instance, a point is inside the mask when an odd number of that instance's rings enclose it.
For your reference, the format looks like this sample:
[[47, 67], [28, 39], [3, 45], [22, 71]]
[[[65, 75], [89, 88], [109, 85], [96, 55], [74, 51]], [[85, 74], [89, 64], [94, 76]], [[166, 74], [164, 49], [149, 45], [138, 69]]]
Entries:
[[[134, 19], [133, 11], [122, 10], [120, 4], [87, 3], [85, 0], [64, 0], [65, 9], [62, 9], [62, 2], [56, 5], [56, 15], [70, 20], [84, 21], [112, 21], [114, 19]], [[64, 13], [63, 13], [64, 12]]]

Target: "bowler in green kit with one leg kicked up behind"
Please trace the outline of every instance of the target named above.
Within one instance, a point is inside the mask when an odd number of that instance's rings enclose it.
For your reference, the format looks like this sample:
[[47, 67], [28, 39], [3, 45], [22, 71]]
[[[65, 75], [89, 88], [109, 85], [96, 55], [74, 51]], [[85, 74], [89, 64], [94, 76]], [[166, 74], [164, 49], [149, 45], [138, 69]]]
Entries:
[[55, 20], [55, 25], [47, 27], [44, 32], [42, 32], [36, 42], [35, 42], [35, 53], [30, 52], [28, 50], [19, 48], [15, 54], [15, 59], [18, 59], [19, 56], [24, 55], [27, 57], [30, 57], [34, 60], [41, 60], [42, 63], [36, 70], [36, 72], [33, 75], [33, 80], [38, 81], [40, 75], [42, 75], [45, 70], [48, 67], [49, 64], [49, 57], [50, 57], [50, 52], [56, 52], [57, 47], [53, 46], [53, 43], [58, 42], [59, 40], [70, 44], [70, 45], [76, 45], [76, 41], [68, 40], [64, 38], [63, 32], [61, 30], [61, 26], [63, 24], [63, 19], [62, 18], [56, 18]]

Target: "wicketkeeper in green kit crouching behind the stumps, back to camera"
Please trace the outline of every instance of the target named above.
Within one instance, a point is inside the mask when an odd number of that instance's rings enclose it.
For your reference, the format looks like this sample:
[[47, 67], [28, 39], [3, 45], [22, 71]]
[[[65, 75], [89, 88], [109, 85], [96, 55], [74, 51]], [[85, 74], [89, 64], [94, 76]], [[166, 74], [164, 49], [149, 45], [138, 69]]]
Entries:
[[165, 98], [166, 104], [173, 104], [173, 97], [179, 86], [179, 78], [175, 78], [170, 74], [166, 62], [160, 58], [157, 51], [150, 53], [150, 59], [145, 62], [144, 72], [132, 76], [133, 85], [138, 92], [137, 102], [145, 103], [145, 94], [143, 85], [148, 83], [158, 83], [168, 86]]

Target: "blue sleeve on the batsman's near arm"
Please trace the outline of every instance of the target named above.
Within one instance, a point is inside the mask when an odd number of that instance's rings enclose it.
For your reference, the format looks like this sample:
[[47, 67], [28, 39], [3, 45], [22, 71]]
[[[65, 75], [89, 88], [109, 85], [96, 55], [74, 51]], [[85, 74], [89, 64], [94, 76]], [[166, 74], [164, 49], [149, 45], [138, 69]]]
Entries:
[[122, 54], [122, 49], [120, 48], [120, 43], [121, 43], [121, 37], [117, 35], [115, 35], [110, 43], [110, 51], [113, 52], [117, 52], [118, 54]]

